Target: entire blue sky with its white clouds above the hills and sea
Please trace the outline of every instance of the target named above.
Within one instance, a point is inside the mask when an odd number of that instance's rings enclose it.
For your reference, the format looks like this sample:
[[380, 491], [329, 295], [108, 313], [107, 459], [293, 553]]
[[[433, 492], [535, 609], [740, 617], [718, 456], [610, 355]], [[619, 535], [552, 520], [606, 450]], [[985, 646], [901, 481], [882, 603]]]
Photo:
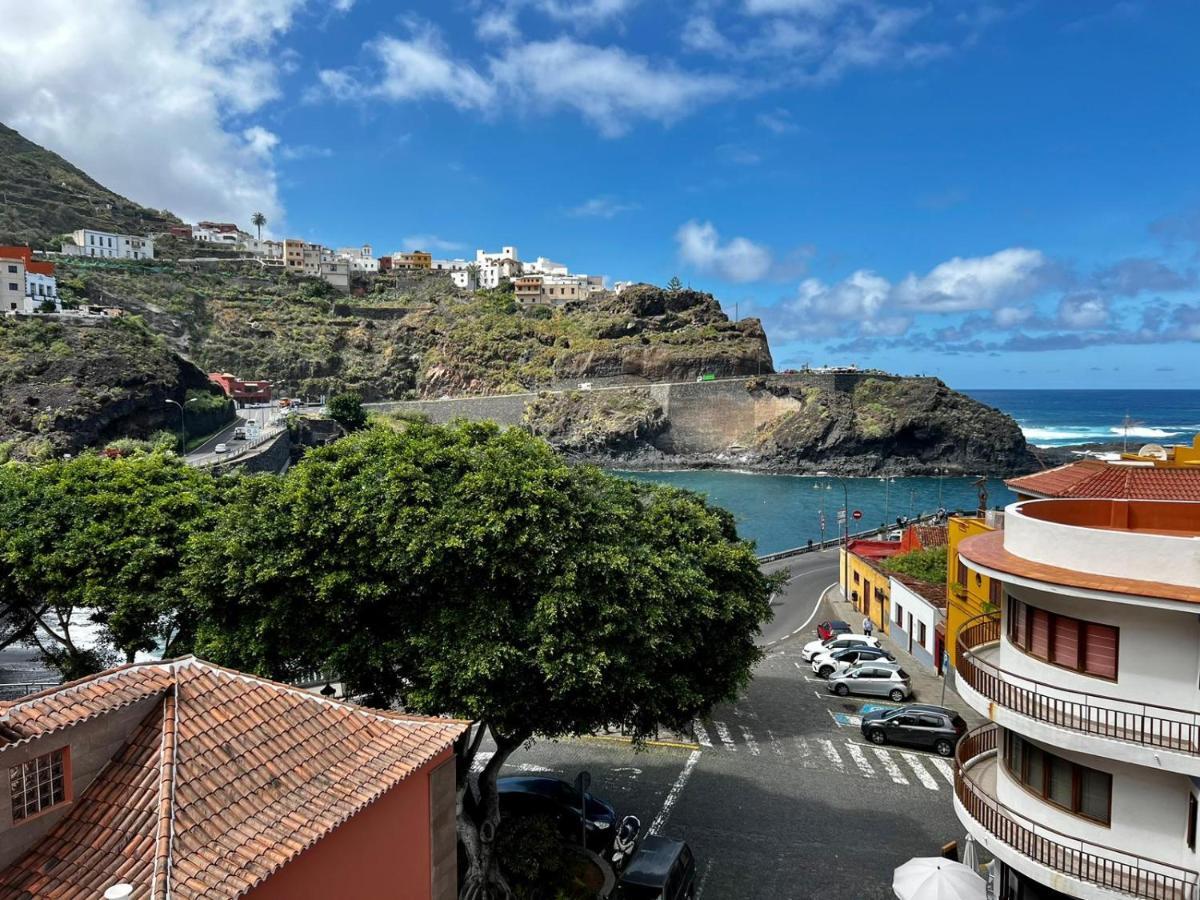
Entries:
[[1195, 4], [25, 6], [0, 120], [188, 218], [677, 274], [779, 367], [1200, 386]]

